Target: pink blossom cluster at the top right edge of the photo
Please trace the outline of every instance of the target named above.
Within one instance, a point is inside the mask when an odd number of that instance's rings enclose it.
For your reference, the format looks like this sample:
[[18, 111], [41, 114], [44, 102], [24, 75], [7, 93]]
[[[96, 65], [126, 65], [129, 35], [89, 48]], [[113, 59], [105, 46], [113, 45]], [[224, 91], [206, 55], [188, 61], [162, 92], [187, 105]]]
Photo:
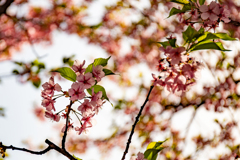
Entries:
[[221, 21], [224, 23], [230, 22], [230, 12], [226, 6], [214, 1], [212, 1], [209, 5], [199, 5], [195, 3], [195, 7], [191, 9], [189, 14], [190, 17], [184, 19], [184, 13], [179, 13], [178, 17], [180, 22], [191, 26], [195, 23], [201, 22], [203, 27], [209, 27], [209, 29], [215, 29]]

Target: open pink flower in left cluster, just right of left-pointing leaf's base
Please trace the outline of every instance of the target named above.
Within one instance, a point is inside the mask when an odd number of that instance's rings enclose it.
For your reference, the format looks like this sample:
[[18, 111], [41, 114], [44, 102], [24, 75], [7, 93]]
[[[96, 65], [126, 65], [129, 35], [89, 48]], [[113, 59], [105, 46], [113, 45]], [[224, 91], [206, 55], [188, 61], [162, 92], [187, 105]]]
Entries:
[[77, 76], [77, 81], [80, 85], [84, 86], [85, 89], [91, 88], [95, 84], [92, 73], [89, 72], [84, 75], [80, 74]]

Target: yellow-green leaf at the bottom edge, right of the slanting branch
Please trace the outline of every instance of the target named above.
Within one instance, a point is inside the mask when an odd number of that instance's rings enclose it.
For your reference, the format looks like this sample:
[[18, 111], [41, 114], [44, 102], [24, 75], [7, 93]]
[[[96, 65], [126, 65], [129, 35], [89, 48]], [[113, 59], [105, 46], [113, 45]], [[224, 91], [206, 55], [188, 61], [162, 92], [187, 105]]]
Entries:
[[149, 143], [149, 145], [147, 146], [147, 150], [144, 152], [144, 158], [148, 160], [156, 160], [158, 152], [164, 149], [163, 147], [161, 147], [163, 142], [165, 141]]

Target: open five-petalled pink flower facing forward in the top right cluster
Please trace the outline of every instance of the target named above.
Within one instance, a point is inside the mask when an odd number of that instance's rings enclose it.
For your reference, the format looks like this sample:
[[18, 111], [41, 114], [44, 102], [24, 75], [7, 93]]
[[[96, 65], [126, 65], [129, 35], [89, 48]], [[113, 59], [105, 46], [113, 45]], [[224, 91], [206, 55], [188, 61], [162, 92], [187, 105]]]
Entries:
[[202, 5], [200, 6], [200, 11], [202, 12], [201, 18], [203, 20], [210, 19], [211, 21], [217, 21], [218, 15], [220, 14], [219, 4], [212, 1], [209, 6]]

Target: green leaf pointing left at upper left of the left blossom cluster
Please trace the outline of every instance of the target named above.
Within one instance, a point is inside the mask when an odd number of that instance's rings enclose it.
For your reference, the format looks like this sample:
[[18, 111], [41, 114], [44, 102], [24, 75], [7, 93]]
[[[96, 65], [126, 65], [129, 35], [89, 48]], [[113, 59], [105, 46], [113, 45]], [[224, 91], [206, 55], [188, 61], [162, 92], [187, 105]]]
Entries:
[[62, 67], [62, 68], [59, 68], [59, 69], [56, 69], [52, 72], [58, 72], [61, 74], [61, 76], [67, 80], [70, 80], [70, 81], [73, 81], [75, 82], [76, 81], [76, 73], [69, 67]]

